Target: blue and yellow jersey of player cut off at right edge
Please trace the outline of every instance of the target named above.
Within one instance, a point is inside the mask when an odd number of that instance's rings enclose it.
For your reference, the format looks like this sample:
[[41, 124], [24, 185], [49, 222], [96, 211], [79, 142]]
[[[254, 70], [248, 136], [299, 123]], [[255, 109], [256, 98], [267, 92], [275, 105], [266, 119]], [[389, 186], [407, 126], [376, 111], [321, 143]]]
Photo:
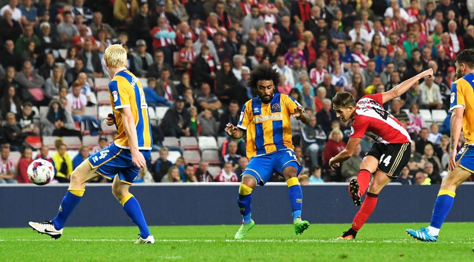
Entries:
[[463, 131], [466, 144], [474, 142], [474, 74], [469, 73], [451, 85], [449, 111], [464, 107]]

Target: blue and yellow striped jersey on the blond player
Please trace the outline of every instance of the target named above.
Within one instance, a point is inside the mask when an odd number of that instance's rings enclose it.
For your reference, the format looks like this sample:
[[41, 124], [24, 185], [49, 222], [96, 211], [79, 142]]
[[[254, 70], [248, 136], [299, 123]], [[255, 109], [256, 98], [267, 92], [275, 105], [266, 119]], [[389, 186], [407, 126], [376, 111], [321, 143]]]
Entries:
[[120, 108], [129, 107], [135, 120], [138, 149], [151, 150], [153, 141], [148, 106], [140, 81], [129, 70], [119, 71], [109, 83], [109, 93], [118, 132], [115, 144], [120, 148], [130, 148], [119, 111]]

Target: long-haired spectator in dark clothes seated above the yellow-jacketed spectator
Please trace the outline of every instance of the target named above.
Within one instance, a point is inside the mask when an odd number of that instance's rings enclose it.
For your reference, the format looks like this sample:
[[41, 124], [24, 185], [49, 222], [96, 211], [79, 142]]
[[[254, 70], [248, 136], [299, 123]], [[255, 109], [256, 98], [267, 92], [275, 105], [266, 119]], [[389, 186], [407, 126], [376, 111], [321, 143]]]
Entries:
[[76, 130], [72, 116], [57, 99], [49, 102], [48, 112], [41, 118], [41, 124], [43, 135], [82, 137], [81, 131]]

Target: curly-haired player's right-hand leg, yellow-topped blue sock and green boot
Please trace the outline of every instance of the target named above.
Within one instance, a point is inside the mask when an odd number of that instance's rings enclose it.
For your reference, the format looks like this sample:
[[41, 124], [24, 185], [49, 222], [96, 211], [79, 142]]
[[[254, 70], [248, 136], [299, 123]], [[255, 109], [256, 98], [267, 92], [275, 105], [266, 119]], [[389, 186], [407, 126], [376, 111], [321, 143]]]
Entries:
[[285, 177], [286, 183], [288, 185], [288, 196], [290, 198], [295, 233], [302, 234], [303, 231], [309, 227], [309, 222], [301, 219], [303, 193], [301, 190], [300, 181], [298, 181], [297, 177], [298, 163], [291, 161], [284, 168], [283, 177]]

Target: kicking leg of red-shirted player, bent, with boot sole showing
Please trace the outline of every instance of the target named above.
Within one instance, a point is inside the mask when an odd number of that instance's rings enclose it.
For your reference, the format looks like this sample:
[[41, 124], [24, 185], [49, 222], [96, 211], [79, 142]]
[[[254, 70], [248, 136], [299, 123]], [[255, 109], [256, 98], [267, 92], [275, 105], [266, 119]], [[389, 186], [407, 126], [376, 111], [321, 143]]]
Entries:
[[379, 160], [373, 156], [367, 155], [360, 164], [360, 170], [357, 179], [351, 179], [349, 182], [349, 196], [354, 205], [362, 204], [362, 196], [369, 187], [370, 177], [377, 170]]

